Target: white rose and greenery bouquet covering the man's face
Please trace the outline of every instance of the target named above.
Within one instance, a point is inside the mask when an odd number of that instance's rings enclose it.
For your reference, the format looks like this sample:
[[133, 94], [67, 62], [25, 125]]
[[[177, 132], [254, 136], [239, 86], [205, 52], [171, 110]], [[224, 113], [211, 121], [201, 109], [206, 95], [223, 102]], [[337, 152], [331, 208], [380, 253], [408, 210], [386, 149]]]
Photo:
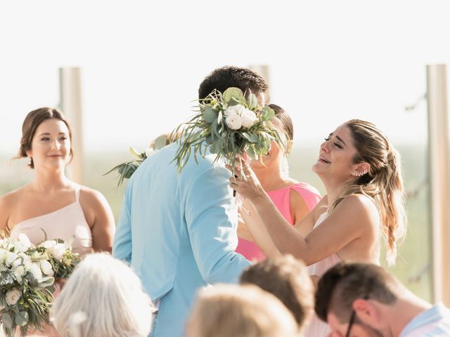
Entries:
[[[274, 117], [270, 107], [259, 107], [257, 97], [247, 98], [239, 88], [228, 88], [224, 93], [213, 91], [199, 101], [195, 116], [174, 131], [181, 133], [180, 147], [175, 161], [180, 172], [193, 153], [205, 157], [217, 154], [215, 161], [225, 159], [233, 168], [237, 157], [260, 160], [269, 152], [272, 140], [285, 147], [283, 137], [269, 121]], [[242, 165], [242, 161], [239, 161]], [[234, 174], [234, 172], [233, 172]]]

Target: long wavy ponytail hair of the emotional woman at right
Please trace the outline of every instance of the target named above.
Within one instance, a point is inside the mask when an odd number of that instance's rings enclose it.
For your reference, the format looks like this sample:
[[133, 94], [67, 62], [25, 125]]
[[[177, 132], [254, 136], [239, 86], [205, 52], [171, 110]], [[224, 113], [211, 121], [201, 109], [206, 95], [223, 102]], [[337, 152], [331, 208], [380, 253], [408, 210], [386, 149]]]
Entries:
[[344, 124], [350, 130], [356, 155], [354, 164], [366, 162], [368, 173], [353, 180], [330, 207], [333, 211], [345, 197], [364, 194], [378, 208], [386, 238], [386, 260], [393, 265], [397, 258], [397, 242], [406, 232], [404, 187], [399, 152], [372, 123], [352, 119]]

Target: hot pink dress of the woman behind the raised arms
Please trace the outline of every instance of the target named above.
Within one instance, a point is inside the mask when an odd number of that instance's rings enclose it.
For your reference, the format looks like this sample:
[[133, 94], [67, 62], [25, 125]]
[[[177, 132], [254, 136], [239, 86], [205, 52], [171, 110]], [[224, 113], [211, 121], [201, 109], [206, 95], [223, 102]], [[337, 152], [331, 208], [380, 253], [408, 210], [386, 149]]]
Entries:
[[[300, 194], [300, 197], [302, 197], [305, 204], [307, 204], [309, 211], [314, 209], [314, 206], [321, 201], [321, 194], [316, 188], [306, 183], [295, 183], [294, 185], [284, 187], [281, 190], [267, 191], [267, 194], [269, 194], [270, 199], [274, 202], [278, 211], [280, 211], [291, 225], [295, 225], [290, 211], [290, 190], [294, 190]], [[251, 261], [260, 261], [266, 258], [257, 244], [245, 239], [239, 238], [236, 252], [242, 254]]]

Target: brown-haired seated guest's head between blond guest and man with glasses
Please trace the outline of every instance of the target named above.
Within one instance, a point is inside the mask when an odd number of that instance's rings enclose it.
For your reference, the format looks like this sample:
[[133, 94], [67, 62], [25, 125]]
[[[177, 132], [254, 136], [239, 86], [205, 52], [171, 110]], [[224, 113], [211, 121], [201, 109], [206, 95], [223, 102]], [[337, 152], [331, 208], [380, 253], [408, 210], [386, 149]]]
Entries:
[[293, 256], [264, 260], [244, 270], [240, 283], [255, 284], [274, 294], [292, 312], [300, 330], [309, 322], [314, 287], [302, 261]]

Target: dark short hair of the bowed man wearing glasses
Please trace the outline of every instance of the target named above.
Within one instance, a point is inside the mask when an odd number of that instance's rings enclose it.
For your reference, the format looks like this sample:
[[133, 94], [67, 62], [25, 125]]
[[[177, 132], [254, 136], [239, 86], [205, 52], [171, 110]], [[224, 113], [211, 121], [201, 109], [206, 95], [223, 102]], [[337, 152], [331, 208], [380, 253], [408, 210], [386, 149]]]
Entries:
[[314, 309], [323, 322], [327, 322], [329, 312], [340, 322], [348, 322], [354, 300], [368, 298], [394, 304], [400, 287], [400, 282], [378, 265], [338, 263], [319, 280]]

